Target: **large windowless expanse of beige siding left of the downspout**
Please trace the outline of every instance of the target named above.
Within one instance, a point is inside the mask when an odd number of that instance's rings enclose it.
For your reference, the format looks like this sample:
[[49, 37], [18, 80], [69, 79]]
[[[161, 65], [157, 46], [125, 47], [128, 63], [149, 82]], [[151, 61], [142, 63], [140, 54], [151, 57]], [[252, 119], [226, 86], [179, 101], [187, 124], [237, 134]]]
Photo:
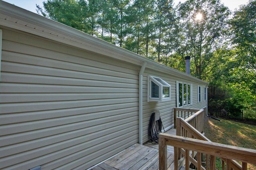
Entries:
[[138, 143], [138, 72], [3, 30], [0, 168], [86, 169]]

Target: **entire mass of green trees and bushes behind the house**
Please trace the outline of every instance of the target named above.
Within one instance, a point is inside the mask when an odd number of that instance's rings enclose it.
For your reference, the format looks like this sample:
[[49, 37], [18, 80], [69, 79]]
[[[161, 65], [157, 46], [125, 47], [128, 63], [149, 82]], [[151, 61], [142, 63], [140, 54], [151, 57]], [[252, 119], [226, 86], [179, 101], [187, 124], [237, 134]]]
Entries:
[[[210, 113], [256, 107], [256, 0], [47, 0], [39, 14], [209, 82]], [[198, 13], [202, 19], [196, 19]]]

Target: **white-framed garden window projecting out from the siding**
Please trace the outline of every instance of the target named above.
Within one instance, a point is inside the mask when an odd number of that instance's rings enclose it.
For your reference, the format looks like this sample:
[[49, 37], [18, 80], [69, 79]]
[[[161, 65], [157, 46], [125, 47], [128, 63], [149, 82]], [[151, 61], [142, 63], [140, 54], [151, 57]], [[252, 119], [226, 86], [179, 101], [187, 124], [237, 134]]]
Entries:
[[171, 85], [162, 78], [148, 76], [148, 102], [171, 100]]

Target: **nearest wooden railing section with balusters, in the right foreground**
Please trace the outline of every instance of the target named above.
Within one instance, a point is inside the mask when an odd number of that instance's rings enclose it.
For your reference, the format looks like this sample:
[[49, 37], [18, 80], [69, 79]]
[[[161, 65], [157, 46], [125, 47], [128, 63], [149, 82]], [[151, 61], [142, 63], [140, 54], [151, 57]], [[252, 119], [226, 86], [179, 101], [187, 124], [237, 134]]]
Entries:
[[[159, 134], [159, 170], [167, 170], [167, 145], [174, 146], [174, 170], [178, 170], [178, 148], [182, 147], [185, 150], [186, 170], [189, 170], [189, 157], [190, 150], [201, 153], [207, 153], [211, 155], [211, 158], [215, 160], [216, 156], [226, 159], [226, 170], [231, 170], [232, 159], [242, 162], [242, 170], [247, 169], [247, 163], [256, 164], [256, 150], [246, 149], [241, 147], [234, 147], [230, 145], [224, 145], [219, 143], [213, 143], [210, 141], [202, 141], [198, 139], [192, 139], [187, 137], [180, 137], [177, 135], [168, 135], [164, 133]], [[202, 170], [200, 164], [201, 156], [193, 164], [198, 170]], [[212, 163], [211, 163], [212, 164]], [[210, 166], [211, 170], [215, 170], [215, 164]], [[222, 170], [224, 166], [222, 166]], [[208, 170], [208, 169], [207, 169]]]

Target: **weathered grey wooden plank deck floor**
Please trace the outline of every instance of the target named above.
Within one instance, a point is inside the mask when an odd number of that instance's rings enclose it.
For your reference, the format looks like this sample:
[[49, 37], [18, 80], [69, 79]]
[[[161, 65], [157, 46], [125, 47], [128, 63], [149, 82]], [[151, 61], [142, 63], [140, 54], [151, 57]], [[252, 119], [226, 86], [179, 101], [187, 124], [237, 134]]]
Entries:
[[[166, 133], [176, 135], [176, 129], [170, 129]], [[173, 153], [173, 147], [168, 146], [168, 170], [174, 169]], [[158, 170], [158, 167], [158, 145], [146, 143], [145, 145], [134, 144], [92, 170]]]

